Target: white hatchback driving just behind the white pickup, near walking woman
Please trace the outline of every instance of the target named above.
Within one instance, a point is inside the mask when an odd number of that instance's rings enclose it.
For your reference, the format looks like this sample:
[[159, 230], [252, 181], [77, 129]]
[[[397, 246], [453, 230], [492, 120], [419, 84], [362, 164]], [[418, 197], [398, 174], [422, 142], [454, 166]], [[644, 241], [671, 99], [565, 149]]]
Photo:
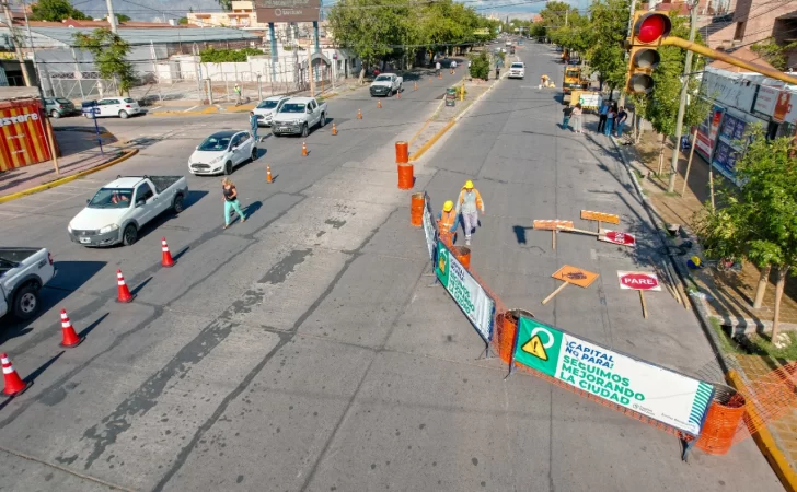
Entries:
[[257, 159], [257, 144], [249, 131], [218, 131], [197, 145], [188, 157], [193, 175], [232, 174], [244, 162]]

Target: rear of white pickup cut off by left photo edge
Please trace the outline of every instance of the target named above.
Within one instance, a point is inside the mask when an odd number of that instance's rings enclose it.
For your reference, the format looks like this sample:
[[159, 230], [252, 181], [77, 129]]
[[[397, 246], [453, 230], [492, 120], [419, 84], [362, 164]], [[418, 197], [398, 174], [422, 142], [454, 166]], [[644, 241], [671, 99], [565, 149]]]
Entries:
[[39, 308], [39, 289], [55, 274], [47, 249], [0, 247], [0, 317], [31, 319]]

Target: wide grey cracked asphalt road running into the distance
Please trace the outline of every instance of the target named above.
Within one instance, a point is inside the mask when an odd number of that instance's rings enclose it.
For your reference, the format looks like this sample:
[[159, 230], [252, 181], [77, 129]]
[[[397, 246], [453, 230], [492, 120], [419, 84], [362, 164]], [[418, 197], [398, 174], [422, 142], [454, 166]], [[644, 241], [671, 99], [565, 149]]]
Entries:
[[[692, 315], [661, 293], [643, 320], [638, 297], [616, 288], [614, 270], [634, 256], [564, 234], [551, 251], [550, 234], [524, 229], [580, 208], [620, 213], [640, 236], [650, 224], [608, 141], [555, 126], [561, 106], [535, 89], [558, 68], [553, 55], [534, 46], [519, 55], [527, 80], [501, 81], [416, 163], [416, 189], [439, 206], [475, 178], [488, 214], [474, 269], [508, 305], [700, 371], [711, 351]], [[46, 246], [59, 268], [44, 290], [47, 311], [1, 333], [35, 383], [0, 403], [0, 487], [778, 490], [751, 442], [684, 465], [667, 434], [524, 374], [504, 380], [498, 361], [477, 360], [478, 336], [428, 286], [409, 192], [396, 189], [393, 142], [420, 128], [452, 80], [423, 80], [417, 92], [409, 81], [382, 109], [362, 92], [332, 99], [339, 134], [316, 130], [308, 157], [300, 139], [266, 139], [232, 176], [251, 215], [227, 231], [219, 179], [199, 177], [188, 178], [187, 209], [132, 247], [85, 249], [66, 225], [117, 174], [185, 174], [199, 140], [245, 127], [245, 114], [103, 121], [148, 139], [141, 152], [0, 206], [3, 245]], [[177, 257], [172, 269], [160, 268], [161, 236]], [[540, 309], [562, 262], [591, 267], [601, 282]], [[131, 304], [114, 302], [117, 268]], [[61, 307], [86, 333], [76, 349], [58, 347]]]

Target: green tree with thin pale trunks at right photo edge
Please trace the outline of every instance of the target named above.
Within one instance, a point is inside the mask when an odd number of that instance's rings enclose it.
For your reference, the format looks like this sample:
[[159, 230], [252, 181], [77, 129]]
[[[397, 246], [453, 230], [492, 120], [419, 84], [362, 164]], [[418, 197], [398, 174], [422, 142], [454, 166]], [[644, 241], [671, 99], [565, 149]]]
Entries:
[[776, 269], [774, 341], [786, 276], [797, 265], [797, 157], [792, 138], [767, 141], [758, 125], [738, 143], [746, 144], [736, 162], [742, 185], [718, 190], [717, 208], [704, 206], [696, 230], [707, 255], [743, 258], [760, 268], [753, 307], [761, 307], [770, 272]]

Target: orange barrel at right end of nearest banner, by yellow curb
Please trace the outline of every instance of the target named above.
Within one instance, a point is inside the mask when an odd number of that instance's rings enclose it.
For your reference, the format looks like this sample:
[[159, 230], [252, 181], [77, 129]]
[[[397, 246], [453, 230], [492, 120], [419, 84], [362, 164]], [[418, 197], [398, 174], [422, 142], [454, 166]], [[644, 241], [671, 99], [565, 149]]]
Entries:
[[709, 455], [724, 455], [734, 445], [747, 410], [744, 396], [725, 385], [714, 385], [714, 398], [708, 406], [701, 435], [695, 443]]

